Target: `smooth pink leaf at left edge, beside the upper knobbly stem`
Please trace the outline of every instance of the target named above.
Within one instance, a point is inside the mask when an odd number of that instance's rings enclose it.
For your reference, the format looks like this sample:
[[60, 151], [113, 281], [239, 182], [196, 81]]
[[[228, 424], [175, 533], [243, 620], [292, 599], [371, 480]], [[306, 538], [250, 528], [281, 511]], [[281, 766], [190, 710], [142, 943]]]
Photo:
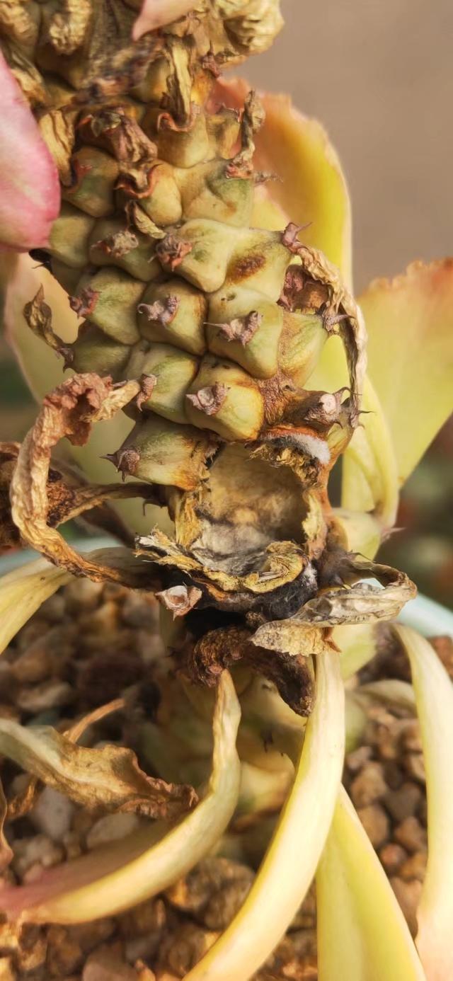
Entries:
[[0, 52], [0, 244], [45, 245], [60, 210], [57, 168]]

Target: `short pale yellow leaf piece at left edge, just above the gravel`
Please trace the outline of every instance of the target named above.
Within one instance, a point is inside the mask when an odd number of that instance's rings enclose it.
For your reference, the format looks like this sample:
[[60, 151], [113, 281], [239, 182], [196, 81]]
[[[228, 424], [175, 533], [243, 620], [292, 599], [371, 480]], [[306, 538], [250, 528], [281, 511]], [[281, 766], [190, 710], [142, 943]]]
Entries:
[[72, 580], [66, 569], [45, 559], [27, 562], [0, 579], [0, 654], [26, 621], [65, 583]]

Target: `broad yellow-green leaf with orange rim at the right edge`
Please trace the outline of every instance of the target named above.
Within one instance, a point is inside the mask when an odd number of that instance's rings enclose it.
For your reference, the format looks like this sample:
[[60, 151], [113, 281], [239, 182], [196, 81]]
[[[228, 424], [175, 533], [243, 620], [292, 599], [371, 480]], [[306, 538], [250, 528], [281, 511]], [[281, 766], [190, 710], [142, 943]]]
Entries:
[[402, 483], [453, 408], [453, 259], [376, 280], [360, 304]]

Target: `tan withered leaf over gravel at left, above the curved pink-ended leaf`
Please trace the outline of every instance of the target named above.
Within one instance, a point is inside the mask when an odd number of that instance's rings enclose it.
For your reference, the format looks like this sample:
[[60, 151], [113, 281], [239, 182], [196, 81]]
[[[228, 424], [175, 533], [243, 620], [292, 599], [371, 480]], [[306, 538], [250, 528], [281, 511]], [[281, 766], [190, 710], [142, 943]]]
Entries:
[[25, 727], [0, 719], [0, 751], [88, 810], [175, 819], [197, 802], [191, 787], [167, 784], [143, 773], [131, 749], [113, 745], [85, 749], [50, 726]]

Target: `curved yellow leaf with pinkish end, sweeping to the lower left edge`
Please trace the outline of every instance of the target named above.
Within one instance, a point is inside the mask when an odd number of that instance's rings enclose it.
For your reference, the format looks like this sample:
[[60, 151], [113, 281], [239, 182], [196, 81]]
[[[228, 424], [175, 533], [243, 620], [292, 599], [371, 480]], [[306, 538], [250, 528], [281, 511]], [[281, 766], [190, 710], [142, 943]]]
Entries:
[[39, 880], [0, 892], [11, 918], [82, 923], [111, 916], [173, 885], [210, 852], [225, 831], [239, 793], [235, 749], [240, 710], [227, 671], [217, 691], [213, 769], [203, 800], [165, 834], [157, 822], [122, 842], [49, 869]]

